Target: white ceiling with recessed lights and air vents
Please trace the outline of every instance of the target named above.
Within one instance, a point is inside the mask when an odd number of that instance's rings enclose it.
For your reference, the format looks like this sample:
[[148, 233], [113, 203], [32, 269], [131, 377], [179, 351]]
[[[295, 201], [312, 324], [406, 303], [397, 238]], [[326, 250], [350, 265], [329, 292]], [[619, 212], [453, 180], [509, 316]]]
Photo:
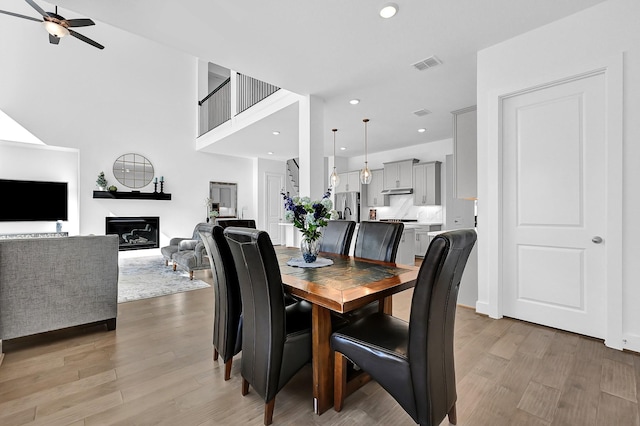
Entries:
[[[45, 10], [53, 3], [36, 0]], [[325, 153], [338, 128], [339, 155], [452, 136], [451, 111], [476, 102], [476, 52], [603, 0], [398, 0], [398, 14], [378, 15], [370, 0], [57, 0], [63, 8], [156, 40], [299, 94], [324, 99]], [[3, 2], [4, 3], [4, 2]], [[3, 4], [4, 7], [4, 4]], [[74, 16], [75, 17], [75, 16]], [[100, 40], [109, 48], [109, 40]], [[412, 64], [436, 55], [442, 65]], [[352, 106], [349, 99], [361, 103]], [[425, 108], [432, 113], [417, 117]], [[283, 111], [216, 142], [212, 152], [297, 156], [297, 112]], [[427, 129], [418, 133], [418, 128]], [[273, 130], [281, 132], [275, 143]], [[272, 148], [273, 146], [273, 148]]]

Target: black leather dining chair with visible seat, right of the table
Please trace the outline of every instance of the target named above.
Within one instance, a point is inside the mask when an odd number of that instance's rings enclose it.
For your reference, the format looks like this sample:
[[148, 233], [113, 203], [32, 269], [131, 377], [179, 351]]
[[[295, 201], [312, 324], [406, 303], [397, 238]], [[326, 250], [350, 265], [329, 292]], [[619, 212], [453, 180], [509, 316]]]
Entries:
[[346, 396], [348, 358], [416, 423], [439, 425], [448, 415], [456, 424], [453, 329], [460, 280], [475, 241], [474, 230], [461, 229], [431, 242], [413, 290], [409, 323], [377, 312], [331, 335], [336, 411]]

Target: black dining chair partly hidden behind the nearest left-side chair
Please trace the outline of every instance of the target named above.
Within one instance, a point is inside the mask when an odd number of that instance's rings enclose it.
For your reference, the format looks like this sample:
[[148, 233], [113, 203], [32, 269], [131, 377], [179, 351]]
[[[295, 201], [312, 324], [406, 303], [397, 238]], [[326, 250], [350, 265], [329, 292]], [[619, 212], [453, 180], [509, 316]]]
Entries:
[[242, 300], [229, 243], [221, 226], [200, 233], [213, 275], [213, 359], [224, 361], [224, 379], [231, 378], [233, 356], [242, 349]]

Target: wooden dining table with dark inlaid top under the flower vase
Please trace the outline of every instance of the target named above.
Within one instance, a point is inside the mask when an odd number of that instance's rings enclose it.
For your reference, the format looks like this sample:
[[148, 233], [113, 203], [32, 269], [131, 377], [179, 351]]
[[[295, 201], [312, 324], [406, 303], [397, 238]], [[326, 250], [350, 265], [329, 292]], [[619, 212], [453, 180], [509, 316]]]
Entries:
[[345, 313], [379, 301], [391, 314], [391, 296], [415, 286], [418, 267], [353, 256], [320, 253], [332, 265], [321, 268], [289, 266], [300, 249], [276, 246], [285, 290], [312, 307], [313, 409], [322, 414], [333, 407], [333, 353], [329, 346], [331, 311]]

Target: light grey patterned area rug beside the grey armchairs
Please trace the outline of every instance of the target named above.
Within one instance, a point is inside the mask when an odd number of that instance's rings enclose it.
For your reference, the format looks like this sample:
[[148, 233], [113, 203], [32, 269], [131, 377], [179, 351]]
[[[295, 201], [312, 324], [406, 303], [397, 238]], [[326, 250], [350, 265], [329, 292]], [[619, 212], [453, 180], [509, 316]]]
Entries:
[[202, 280], [190, 280], [186, 271], [165, 266], [162, 256], [120, 259], [118, 266], [118, 303], [209, 287]]

